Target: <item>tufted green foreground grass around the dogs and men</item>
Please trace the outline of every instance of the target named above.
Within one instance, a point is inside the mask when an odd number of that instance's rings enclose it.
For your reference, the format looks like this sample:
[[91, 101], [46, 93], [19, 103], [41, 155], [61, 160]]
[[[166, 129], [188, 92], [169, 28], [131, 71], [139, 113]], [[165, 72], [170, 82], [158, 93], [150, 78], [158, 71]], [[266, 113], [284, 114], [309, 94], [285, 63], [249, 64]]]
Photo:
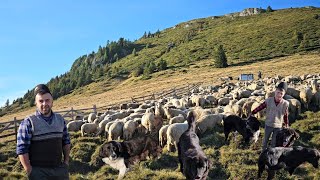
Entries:
[[[303, 119], [291, 125], [300, 131], [300, 139], [295, 145], [320, 148], [320, 113], [306, 112]], [[263, 122], [263, 120], [262, 120]], [[262, 130], [262, 135], [264, 130]], [[230, 144], [224, 143], [222, 126], [206, 132], [200, 138], [204, 152], [213, 162], [208, 179], [257, 179], [257, 161], [261, 151], [262, 137], [256, 144], [249, 146], [230, 138]], [[98, 165], [98, 148], [104, 140], [97, 137], [81, 137], [80, 132], [71, 133], [72, 149], [69, 171], [71, 179], [116, 179], [118, 172], [107, 165]], [[8, 179], [26, 179], [18, 159], [14, 157], [15, 144], [0, 143], [0, 177]], [[266, 179], [264, 171], [262, 179]], [[319, 179], [320, 171], [305, 163], [299, 166], [292, 176], [284, 170], [276, 174], [276, 179]], [[177, 152], [168, 153], [164, 149], [161, 157], [147, 160], [133, 166], [125, 179], [184, 179], [179, 172]]]

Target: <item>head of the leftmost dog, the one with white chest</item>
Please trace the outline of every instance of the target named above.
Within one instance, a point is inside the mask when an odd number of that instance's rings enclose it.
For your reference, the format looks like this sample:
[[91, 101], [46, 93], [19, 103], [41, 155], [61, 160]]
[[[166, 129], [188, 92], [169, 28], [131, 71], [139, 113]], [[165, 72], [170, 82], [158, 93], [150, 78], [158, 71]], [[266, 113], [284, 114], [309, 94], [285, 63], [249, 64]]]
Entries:
[[121, 153], [121, 144], [116, 141], [109, 141], [101, 146], [99, 156], [101, 158], [109, 158], [110, 160], [116, 160]]

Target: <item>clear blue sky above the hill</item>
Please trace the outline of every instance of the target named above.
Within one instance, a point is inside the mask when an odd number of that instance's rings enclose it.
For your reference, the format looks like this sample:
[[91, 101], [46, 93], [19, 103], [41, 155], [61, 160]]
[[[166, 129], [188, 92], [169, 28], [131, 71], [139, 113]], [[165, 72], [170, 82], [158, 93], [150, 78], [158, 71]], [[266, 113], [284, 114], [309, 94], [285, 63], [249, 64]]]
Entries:
[[319, 0], [1, 0], [0, 107], [70, 70], [107, 40], [249, 7], [316, 6]]

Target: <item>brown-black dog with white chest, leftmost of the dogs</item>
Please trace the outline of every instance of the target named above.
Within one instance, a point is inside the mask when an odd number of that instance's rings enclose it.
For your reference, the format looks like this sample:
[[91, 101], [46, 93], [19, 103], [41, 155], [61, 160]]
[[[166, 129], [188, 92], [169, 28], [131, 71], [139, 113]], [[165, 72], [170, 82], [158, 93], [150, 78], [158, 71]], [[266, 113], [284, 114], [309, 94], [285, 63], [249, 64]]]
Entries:
[[158, 157], [162, 151], [158, 134], [148, 134], [129, 141], [109, 141], [99, 150], [102, 161], [119, 170], [118, 179], [123, 179], [131, 164], [145, 160], [147, 156]]

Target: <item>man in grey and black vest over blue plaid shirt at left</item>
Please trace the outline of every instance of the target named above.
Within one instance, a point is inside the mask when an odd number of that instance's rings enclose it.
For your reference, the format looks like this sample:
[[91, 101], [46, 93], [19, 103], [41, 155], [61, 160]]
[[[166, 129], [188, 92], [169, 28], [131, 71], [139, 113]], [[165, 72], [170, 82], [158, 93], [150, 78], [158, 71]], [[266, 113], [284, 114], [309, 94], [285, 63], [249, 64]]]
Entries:
[[36, 112], [20, 124], [17, 154], [29, 179], [69, 179], [70, 137], [64, 118], [52, 112], [49, 88], [34, 89]]

